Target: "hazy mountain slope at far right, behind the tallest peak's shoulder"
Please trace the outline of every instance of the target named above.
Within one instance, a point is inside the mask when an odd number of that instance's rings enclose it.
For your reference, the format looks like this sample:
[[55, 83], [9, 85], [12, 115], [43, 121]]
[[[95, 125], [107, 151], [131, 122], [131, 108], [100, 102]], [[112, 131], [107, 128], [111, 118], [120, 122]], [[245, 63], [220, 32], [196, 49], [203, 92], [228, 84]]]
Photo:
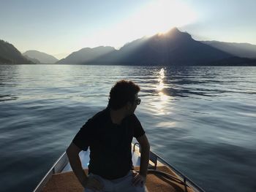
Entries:
[[236, 42], [201, 41], [206, 45], [244, 58], [256, 58], [256, 45]]

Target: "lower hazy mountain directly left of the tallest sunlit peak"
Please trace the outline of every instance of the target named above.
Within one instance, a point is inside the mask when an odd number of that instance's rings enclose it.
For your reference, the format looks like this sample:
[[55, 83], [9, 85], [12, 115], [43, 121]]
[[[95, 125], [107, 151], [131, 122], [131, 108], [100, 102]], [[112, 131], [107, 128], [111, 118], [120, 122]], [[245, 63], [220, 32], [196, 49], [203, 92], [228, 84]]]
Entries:
[[71, 53], [67, 58], [63, 58], [56, 64], [83, 64], [85, 62], [95, 61], [102, 55], [106, 55], [116, 51], [114, 47], [94, 47], [94, 48], [83, 48], [76, 52]]

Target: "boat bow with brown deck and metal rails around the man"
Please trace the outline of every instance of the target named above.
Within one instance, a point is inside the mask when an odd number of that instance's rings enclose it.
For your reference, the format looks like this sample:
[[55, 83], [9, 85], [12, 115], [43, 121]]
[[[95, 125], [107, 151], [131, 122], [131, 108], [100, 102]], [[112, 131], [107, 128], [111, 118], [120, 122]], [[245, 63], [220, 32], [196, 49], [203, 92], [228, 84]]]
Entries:
[[[136, 144], [132, 144], [132, 163], [135, 171], [138, 171], [140, 169], [140, 147], [136, 146]], [[86, 174], [88, 174], [89, 154], [89, 150], [79, 153], [80, 161]], [[188, 177], [179, 172], [175, 167], [152, 152], [150, 152], [146, 187], [148, 192], [204, 192], [192, 180], [189, 180]], [[84, 191], [78, 178], [72, 172], [66, 153], [61, 155], [39, 185], [37, 185], [34, 192], [39, 191]]]

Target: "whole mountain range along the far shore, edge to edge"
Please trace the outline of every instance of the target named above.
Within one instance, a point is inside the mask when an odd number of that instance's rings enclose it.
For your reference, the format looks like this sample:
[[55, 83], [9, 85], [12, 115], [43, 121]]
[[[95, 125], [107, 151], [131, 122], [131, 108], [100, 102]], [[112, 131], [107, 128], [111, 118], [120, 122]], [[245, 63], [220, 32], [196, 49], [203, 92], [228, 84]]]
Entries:
[[[256, 59], [253, 59], [255, 52], [256, 45], [199, 42], [192, 39], [187, 32], [179, 31], [178, 28], [173, 28], [166, 34], [136, 39], [119, 50], [110, 46], [86, 47], [59, 61], [52, 55], [37, 50], [29, 50], [21, 55], [13, 45], [0, 40], [0, 64], [256, 66]], [[237, 56], [238, 53], [241, 54], [240, 57]], [[252, 58], [245, 58], [244, 54]]]

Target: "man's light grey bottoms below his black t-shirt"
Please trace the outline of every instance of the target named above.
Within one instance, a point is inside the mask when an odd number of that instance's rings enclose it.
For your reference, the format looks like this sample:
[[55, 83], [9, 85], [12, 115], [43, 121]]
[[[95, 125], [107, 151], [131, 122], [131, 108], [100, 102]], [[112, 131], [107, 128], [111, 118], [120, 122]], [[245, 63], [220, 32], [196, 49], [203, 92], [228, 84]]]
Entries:
[[[103, 191], [100, 192], [148, 192], [146, 185], [142, 187], [140, 185], [132, 185], [133, 174], [132, 170], [128, 172], [124, 177], [116, 180], [106, 180], [97, 174], [90, 173], [89, 177], [96, 177], [103, 185]], [[94, 192], [89, 188], [85, 188], [84, 192]]]

